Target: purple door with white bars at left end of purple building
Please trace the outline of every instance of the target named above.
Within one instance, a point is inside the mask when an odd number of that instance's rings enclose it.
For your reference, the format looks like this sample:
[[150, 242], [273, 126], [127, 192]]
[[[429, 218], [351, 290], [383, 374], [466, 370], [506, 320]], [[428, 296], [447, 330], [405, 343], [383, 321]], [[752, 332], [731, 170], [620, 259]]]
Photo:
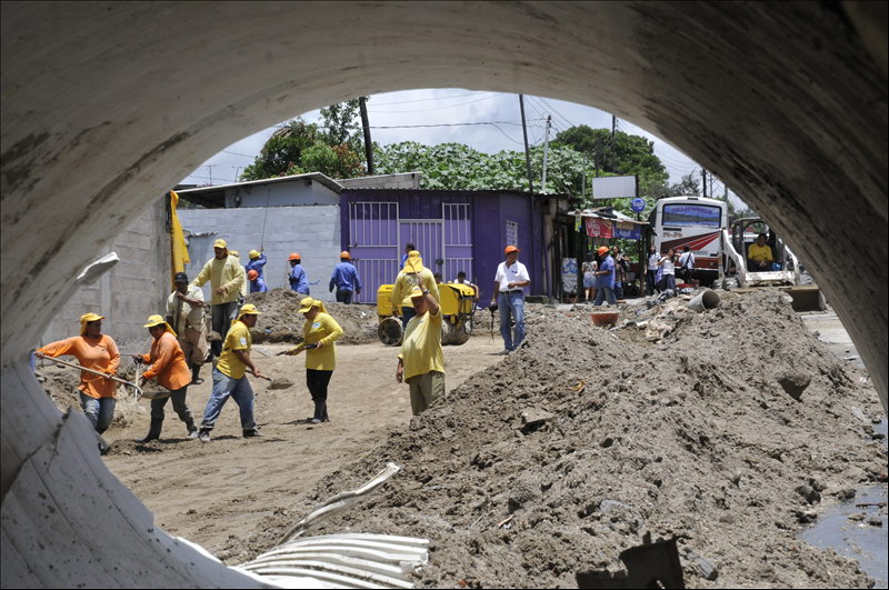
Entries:
[[376, 303], [377, 289], [392, 284], [399, 271], [398, 203], [349, 203], [349, 241], [363, 286], [353, 301]]

